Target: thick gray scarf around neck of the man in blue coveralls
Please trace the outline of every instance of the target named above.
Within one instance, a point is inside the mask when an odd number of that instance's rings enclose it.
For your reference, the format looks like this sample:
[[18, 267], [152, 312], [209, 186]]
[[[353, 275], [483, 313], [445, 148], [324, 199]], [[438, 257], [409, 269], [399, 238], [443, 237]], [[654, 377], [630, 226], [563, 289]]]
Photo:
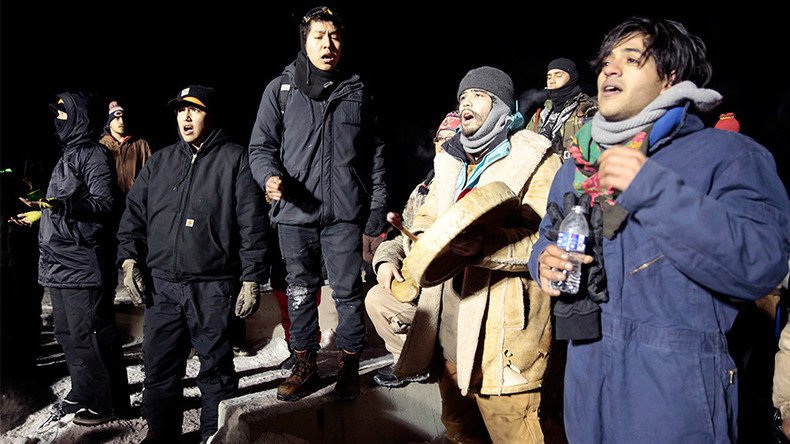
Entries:
[[648, 104], [639, 114], [619, 122], [606, 120], [600, 112], [593, 117], [592, 138], [599, 145], [609, 147], [627, 142], [640, 131], [655, 123], [670, 108], [691, 101], [702, 112], [710, 111], [721, 102], [721, 94], [699, 88], [689, 80], [673, 85]]

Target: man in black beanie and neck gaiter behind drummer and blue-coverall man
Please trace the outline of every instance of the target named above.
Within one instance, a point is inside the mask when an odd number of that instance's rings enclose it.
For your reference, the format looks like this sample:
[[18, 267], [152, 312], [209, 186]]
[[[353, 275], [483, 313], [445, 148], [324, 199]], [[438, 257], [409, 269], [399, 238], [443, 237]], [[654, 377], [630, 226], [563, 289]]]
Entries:
[[566, 58], [549, 63], [546, 93], [548, 99], [529, 119], [527, 129], [551, 140], [551, 149], [565, 160], [571, 139], [595, 114], [598, 104], [582, 91], [576, 64]]

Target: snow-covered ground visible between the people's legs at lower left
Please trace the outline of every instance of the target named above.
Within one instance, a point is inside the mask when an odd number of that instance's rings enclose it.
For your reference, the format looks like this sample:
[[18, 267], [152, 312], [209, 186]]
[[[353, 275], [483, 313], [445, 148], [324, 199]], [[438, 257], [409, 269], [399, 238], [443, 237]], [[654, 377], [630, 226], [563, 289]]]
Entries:
[[[267, 295], [269, 296], [269, 295]], [[269, 296], [271, 297], [271, 296]], [[331, 300], [331, 298], [328, 298]], [[116, 303], [127, 303], [126, 296], [119, 294]], [[322, 304], [323, 305], [323, 304]], [[264, 308], [265, 304], [262, 304]], [[269, 307], [271, 308], [271, 304]], [[45, 299], [45, 317], [47, 306]], [[257, 321], [256, 321], [257, 319]], [[265, 337], [250, 334], [256, 331], [271, 333], [271, 328], [258, 329], [256, 322], [270, 322], [263, 316], [253, 316], [248, 319], [247, 333], [248, 344], [254, 352], [252, 356], [235, 357], [234, 364], [239, 374], [239, 396], [260, 395], [263, 398], [270, 398], [273, 402], [277, 385], [288, 375], [288, 371], [280, 370], [279, 363], [288, 355], [287, 345], [282, 337]], [[4, 396], [2, 408], [5, 423], [19, 422], [10, 430], [0, 436], [0, 443], [13, 444], [32, 444], [32, 443], [118, 443], [131, 444], [139, 443], [147, 432], [145, 421], [139, 417], [131, 419], [119, 419], [107, 424], [95, 427], [84, 427], [68, 422], [70, 416], [64, 418], [65, 424], [50, 424], [42, 428], [49, 417], [54, 402], [61, 399], [68, 393], [70, 383], [65, 363], [62, 359], [62, 352], [52, 338], [52, 327], [45, 326], [42, 334], [43, 355], [38, 360], [38, 370], [41, 375], [36, 376], [35, 381], [15, 393]], [[375, 335], [375, 333], [374, 333]], [[372, 346], [371, 346], [372, 345]], [[334, 348], [334, 332], [331, 329], [322, 331], [322, 350], [319, 352], [318, 364], [319, 373], [323, 377], [330, 378], [337, 369], [337, 351]], [[140, 349], [140, 338], [132, 338], [124, 345], [124, 358], [129, 378], [131, 402], [134, 413], [139, 415], [139, 406], [142, 399], [143, 366], [142, 352]], [[381, 367], [390, 362], [390, 356], [380, 344], [369, 344], [363, 354], [363, 360], [367, 360], [367, 365]], [[185, 412], [184, 425], [181, 442], [199, 442], [200, 436], [199, 415], [200, 415], [200, 393], [195, 385], [195, 376], [198, 373], [200, 363], [197, 357], [187, 361], [187, 375], [184, 381]], [[18, 419], [17, 419], [18, 418]], [[282, 437], [279, 442], [299, 442], [293, 441], [288, 437]], [[275, 442], [267, 440], [267, 442]]]

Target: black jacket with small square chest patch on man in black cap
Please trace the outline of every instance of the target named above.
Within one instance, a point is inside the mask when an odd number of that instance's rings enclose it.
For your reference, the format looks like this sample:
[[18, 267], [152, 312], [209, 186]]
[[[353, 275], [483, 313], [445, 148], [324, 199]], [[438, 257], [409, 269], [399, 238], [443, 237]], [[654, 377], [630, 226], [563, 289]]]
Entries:
[[170, 282], [265, 283], [266, 209], [244, 147], [221, 130], [197, 151], [179, 141], [156, 152], [129, 190], [118, 264], [135, 259]]

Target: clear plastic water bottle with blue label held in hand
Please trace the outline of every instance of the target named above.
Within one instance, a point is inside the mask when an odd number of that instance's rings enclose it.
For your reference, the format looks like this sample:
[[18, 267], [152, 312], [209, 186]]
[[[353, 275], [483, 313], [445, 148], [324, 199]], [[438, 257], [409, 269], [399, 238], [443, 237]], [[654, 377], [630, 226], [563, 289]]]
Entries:
[[565, 273], [565, 280], [553, 281], [551, 288], [569, 294], [579, 292], [579, 281], [582, 277], [582, 256], [589, 235], [590, 227], [587, 225], [584, 210], [576, 205], [570, 213], [565, 215], [557, 236], [557, 246], [568, 252], [568, 260], [573, 263], [573, 270], [562, 270]]

